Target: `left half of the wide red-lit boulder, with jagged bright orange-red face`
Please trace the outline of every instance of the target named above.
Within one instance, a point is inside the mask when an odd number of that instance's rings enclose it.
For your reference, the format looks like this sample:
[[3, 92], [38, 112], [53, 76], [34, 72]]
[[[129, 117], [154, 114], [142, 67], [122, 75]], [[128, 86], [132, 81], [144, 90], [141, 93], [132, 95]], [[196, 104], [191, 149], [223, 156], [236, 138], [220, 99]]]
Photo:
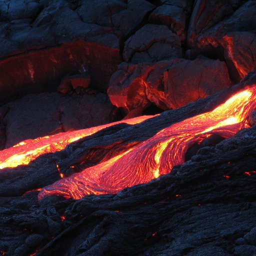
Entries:
[[164, 95], [163, 72], [172, 62], [121, 63], [111, 76], [107, 90], [112, 104], [128, 111], [137, 108], [142, 111], [153, 102], [160, 108], [168, 109], [170, 106]]

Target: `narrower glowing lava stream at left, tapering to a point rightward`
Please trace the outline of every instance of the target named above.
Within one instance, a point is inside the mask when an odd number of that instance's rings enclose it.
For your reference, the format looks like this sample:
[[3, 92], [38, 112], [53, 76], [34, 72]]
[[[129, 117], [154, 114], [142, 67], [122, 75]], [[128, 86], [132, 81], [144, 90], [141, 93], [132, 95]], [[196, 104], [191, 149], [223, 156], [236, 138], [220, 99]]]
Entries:
[[51, 136], [21, 141], [10, 148], [0, 151], [0, 169], [5, 167], [16, 167], [19, 164], [28, 164], [31, 160], [34, 160], [37, 156], [43, 153], [59, 151], [71, 142], [91, 135], [105, 127], [121, 122], [136, 124], [150, 117], [152, 117], [152, 115], [144, 115], [87, 129], [60, 132]]

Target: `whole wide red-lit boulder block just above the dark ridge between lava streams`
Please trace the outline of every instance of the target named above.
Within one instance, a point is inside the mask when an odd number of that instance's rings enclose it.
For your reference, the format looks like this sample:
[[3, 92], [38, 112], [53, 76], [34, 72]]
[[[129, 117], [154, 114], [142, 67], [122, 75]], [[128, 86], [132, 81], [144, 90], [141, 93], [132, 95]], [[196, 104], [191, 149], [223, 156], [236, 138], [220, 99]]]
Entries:
[[231, 84], [225, 62], [210, 59], [173, 59], [153, 64], [121, 63], [111, 76], [108, 96], [129, 111], [150, 103], [177, 108]]

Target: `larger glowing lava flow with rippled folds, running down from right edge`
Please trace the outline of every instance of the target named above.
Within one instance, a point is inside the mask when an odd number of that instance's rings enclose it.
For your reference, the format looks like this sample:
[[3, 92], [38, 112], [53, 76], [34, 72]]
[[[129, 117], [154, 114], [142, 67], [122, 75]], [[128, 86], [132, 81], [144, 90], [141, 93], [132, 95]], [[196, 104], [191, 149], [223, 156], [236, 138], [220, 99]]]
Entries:
[[78, 199], [87, 194], [116, 193], [168, 173], [184, 162], [193, 143], [211, 134], [231, 137], [247, 127], [246, 117], [256, 107], [255, 99], [255, 86], [237, 92], [210, 112], [174, 123], [120, 155], [44, 187], [38, 198], [54, 194]]

